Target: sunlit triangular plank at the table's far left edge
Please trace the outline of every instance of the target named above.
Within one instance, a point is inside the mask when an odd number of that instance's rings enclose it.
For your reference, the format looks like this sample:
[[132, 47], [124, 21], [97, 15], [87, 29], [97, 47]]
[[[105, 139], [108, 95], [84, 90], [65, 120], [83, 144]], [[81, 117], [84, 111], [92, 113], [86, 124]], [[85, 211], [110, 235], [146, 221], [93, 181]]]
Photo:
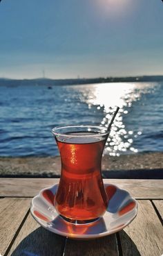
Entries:
[[0, 204], [0, 255], [4, 255], [30, 207], [30, 199], [3, 198]]

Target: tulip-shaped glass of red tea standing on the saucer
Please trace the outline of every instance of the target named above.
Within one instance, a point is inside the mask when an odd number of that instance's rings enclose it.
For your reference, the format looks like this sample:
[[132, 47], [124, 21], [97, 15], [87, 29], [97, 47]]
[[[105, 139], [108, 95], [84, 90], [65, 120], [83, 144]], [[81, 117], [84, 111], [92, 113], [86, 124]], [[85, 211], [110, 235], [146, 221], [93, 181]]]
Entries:
[[71, 223], [95, 221], [108, 205], [101, 164], [109, 131], [102, 126], [63, 126], [52, 133], [61, 155], [55, 208]]

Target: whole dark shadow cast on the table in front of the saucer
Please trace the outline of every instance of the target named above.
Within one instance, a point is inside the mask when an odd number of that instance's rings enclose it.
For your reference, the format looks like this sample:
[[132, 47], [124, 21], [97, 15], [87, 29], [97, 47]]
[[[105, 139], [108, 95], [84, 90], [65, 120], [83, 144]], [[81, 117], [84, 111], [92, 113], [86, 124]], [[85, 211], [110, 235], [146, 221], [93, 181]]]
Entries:
[[137, 246], [124, 230], [99, 239], [84, 241], [66, 240], [65, 237], [49, 232], [44, 228], [37, 228], [25, 237], [11, 256], [57, 256], [64, 255], [64, 253], [66, 256], [141, 256]]

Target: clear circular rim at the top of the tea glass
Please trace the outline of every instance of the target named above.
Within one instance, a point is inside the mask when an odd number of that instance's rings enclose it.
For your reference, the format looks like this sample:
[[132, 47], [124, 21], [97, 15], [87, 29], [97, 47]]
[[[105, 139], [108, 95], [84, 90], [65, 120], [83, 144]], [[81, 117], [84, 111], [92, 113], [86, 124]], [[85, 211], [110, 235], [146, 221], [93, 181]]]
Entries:
[[[57, 133], [57, 130], [59, 129], [65, 129], [65, 128], [96, 128], [99, 129], [99, 133], [96, 134], [89, 134], [91, 132], [91, 130], [88, 130], [88, 134], [85, 135], [81, 135], [81, 134], [75, 134], [75, 135], [70, 135], [70, 134], [66, 134], [66, 133]], [[104, 132], [102, 132], [102, 130]], [[100, 133], [101, 131], [101, 133]], [[74, 131], [75, 132], [75, 131]], [[73, 130], [72, 130], [73, 133]], [[110, 133], [110, 130], [107, 130], [106, 127], [104, 126], [93, 126], [93, 125], [70, 125], [70, 126], [56, 126], [55, 128], [52, 128], [52, 134], [55, 136], [62, 136], [62, 137], [97, 137], [97, 135], [101, 135], [101, 136], [105, 136], [108, 135]]]

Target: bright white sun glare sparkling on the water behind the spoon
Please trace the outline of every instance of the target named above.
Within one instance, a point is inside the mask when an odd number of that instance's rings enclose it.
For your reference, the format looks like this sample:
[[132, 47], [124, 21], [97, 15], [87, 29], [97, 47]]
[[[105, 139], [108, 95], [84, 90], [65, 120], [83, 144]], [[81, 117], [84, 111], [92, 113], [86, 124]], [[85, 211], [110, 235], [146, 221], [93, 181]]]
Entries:
[[142, 134], [142, 131], [128, 130], [124, 123], [124, 116], [130, 112], [133, 103], [139, 101], [142, 94], [146, 94], [153, 86], [148, 83], [104, 83], [76, 87], [80, 94], [80, 101], [87, 103], [90, 110], [93, 108], [97, 113], [98, 111], [104, 113], [101, 126], [108, 127], [115, 112], [115, 106], [120, 108], [104, 153], [109, 155], [119, 155], [126, 151], [137, 153], [137, 148], [133, 147], [133, 141]]

